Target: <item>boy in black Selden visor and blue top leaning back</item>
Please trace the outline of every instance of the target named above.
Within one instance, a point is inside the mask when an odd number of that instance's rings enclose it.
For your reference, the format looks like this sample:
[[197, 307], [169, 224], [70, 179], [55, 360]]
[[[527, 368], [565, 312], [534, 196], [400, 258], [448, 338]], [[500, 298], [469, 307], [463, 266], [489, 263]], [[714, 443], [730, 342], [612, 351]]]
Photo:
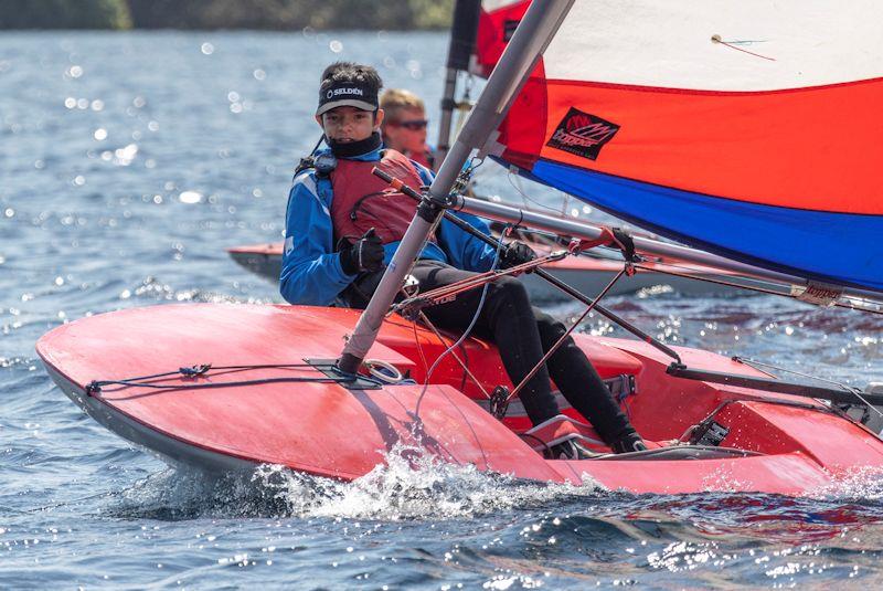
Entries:
[[[416, 209], [412, 199], [373, 176], [372, 168], [384, 169], [413, 187], [433, 180], [424, 166], [384, 149], [380, 135], [384, 112], [377, 101], [381, 86], [381, 77], [371, 66], [338, 62], [322, 73], [316, 122], [330, 149], [317, 151], [299, 167], [288, 197], [280, 291], [291, 304], [323, 306], [342, 299], [363, 307]], [[480, 219], [461, 212], [457, 215], [489, 233]], [[427, 292], [487, 272], [497, 256], [493, 247], [443, 221], [412, 275], [421, 292]], [[513, 242], [499, 255], [499, 263], [509, 267], [534, 257], [529, 246]], [[426, 316], [442, 328], [464, 330], [476, 315], [481, 293], [480, 288], [461, 293], [453, 302], [426, 308]], [[512, 382], [520, 383], [564, 333], [564, 325], [531, 306], [520, 281], [500, 277], [488, 285], [472, 334], [506, 344], [499, 348], [500, 357]], [[550, 377], [614, 451], [645, 448], [570, 337], [520, 393], [534, 425], [558, 414]], [[579, 457], [584, 451], [568, 445], [553, 453]]]

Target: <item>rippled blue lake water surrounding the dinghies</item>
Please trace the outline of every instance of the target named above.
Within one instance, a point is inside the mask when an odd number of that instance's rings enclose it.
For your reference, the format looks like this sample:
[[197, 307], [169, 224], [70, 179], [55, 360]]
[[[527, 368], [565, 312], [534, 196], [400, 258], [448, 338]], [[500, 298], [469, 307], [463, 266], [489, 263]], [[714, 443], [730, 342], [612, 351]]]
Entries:
[[[804, 499], [632, 496], [450, 466], [415, 472], [395, 457], [349, 485], [273, 467], [209, 481], [131, 448], [52, 383], [33, 347], [64, 321], [167, 302], [279, 302], [224, 249], [280, 239], [292, 162], [319, 135], [320, 72], [337, 59], [377, 64], [387, 86], [421, 93], [437, 119], [446, 42], [0, 34], [0, 588], [883, 583], [883, 482], [873, 476]], [[521, 199], [504, 172], [482, 172], [481, 190]], [[667, 293], [610, 306], [668, 342], [859, 386], [883, 380], [883, 324], [871, 316]], [[578, 307], [552, 310], [567, 318]], [[594, 318], [584, 329], [609, 327]]]

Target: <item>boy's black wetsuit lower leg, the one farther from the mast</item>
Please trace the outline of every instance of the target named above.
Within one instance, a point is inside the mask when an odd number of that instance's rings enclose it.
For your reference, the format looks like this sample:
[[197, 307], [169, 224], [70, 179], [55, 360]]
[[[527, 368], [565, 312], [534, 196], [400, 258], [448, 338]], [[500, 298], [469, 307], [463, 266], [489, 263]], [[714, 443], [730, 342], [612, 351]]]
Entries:
[[[533, 308], [533, 314], [543, 350], [547, 351], [567, 329], [564, 324], [538, 308]], [[564, 340], [545, 365], [567, 402], [588, 419], [605, 442], [611, 443], [634, 431], [586, 353], [576, 346], [572, 337]]]

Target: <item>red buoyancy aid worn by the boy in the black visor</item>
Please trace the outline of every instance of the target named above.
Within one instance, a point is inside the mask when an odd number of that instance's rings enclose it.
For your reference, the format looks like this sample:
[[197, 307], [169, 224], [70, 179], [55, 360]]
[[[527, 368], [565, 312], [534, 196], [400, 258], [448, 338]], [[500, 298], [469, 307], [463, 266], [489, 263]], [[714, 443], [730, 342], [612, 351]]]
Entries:
[[374, 229], [384, 244], [397, 242], [414, 218], [417, 203], [371, 173], [377, 167], [413, 188], [423, 184], [414, 165], [395, 150], [384, 150], [380, 161], [338, 160], [331, 172], [331, 221], [334, 242], [355, 242]]

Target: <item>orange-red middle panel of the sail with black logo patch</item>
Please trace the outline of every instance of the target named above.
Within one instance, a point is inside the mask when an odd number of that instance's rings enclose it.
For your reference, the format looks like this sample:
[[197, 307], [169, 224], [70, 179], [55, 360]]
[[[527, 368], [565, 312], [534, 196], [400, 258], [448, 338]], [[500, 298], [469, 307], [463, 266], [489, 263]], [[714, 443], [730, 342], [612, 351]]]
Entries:
[[[501, 141], [506, 158], [528, 169], [545, 158], [751, 203], [880, 214], [883, 199], [869, 196], [880, 194], [881, 104], [883, 78], [732, 93], [545, 81], [538, 73]], [[588, 128], [574, 112], [588, 116]], [[614, 136], [591, 159], [579, 147], [594, 141], [592, 123], [604, 131], [598, 119]]]

